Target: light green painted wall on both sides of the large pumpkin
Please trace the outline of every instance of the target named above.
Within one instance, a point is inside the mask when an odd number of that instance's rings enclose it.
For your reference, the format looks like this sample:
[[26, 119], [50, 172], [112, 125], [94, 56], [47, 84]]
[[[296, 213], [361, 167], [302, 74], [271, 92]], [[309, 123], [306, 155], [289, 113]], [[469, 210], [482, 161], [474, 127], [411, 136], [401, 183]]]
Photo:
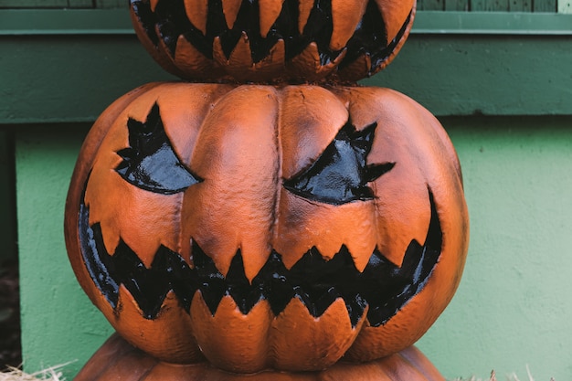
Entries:
[[[572, 377], [572, 117], [441, 118], [463, 168], [471, 246], [450, 307], [418, 343], [448, 378], [494, 369]], [[69, 176], [88, 126], [16, 132], [26, 369], [74, 374], [111, 333], [63, 240]], [[500, 379], [503, 379], [502, 377]]]

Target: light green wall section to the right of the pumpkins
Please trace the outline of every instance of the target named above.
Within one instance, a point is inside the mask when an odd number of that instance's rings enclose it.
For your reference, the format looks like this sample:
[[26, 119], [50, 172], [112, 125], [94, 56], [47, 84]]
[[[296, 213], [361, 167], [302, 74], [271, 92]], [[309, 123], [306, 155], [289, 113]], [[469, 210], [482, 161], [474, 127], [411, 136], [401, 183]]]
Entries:
[[419, 346], [449, 377], [572, 379], [572, 118], [445, 120], [471, 214], [455, 298]]

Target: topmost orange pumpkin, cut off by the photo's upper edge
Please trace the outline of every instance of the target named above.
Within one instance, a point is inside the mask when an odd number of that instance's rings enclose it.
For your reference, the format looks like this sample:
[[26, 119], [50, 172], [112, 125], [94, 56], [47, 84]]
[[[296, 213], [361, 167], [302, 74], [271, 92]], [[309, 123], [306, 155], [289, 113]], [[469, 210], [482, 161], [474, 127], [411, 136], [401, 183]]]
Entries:
[[416, 0], [131, 0], [137, 36], [183, 79], [355, 81], [384, 69]]

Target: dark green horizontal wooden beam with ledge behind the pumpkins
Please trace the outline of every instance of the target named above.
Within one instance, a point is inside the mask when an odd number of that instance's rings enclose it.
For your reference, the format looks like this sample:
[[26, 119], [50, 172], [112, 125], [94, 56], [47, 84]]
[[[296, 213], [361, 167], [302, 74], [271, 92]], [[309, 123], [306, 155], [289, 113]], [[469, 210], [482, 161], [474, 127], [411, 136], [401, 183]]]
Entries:
[[[0, 9], [0, 49], [0, 124], [92, 122], [132, 88], [174, 79], [126, 8]], [[572, 115], [572, 14], [419, 10], [396, 60], [362, 83], [436, 115]]]

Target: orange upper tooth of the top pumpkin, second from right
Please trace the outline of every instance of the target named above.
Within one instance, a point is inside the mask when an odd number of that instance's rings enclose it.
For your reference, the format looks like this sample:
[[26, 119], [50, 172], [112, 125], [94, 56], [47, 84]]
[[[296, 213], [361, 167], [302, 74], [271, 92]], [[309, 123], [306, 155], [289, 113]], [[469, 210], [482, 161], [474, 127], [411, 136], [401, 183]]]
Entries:
[[365, 13], [366, 0], [332, 0], [332, 21], [334, 30], [330, 48], [334, 51], [345, 47], [354, 35], [355, 27]]

